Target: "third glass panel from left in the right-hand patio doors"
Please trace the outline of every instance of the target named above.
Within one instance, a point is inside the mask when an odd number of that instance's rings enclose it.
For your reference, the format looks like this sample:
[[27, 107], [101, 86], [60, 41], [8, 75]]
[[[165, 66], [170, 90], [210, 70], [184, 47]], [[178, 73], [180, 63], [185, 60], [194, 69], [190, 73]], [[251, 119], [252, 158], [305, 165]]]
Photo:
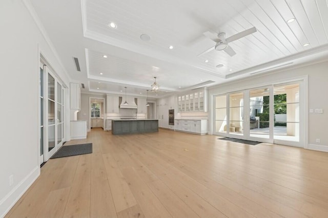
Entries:
[[270, 138], [270, 90], [250, 90], [250, 136]]

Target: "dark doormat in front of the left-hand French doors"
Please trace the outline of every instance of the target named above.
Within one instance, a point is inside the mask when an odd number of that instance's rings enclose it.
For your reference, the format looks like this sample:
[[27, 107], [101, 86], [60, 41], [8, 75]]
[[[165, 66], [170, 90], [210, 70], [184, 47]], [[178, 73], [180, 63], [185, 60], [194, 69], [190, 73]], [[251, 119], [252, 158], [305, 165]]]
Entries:
[[92, 153], [92, 143], [61, 146], [61, 148], [56, 153], [54, 153], [50, 159], [90, 153]]

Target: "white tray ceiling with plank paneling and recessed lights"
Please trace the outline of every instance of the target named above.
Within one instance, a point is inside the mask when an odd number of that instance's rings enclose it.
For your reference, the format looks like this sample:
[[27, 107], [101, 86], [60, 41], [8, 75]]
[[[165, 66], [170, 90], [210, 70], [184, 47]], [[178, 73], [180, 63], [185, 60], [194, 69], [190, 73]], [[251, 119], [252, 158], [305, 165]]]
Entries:
[[[126, 86], [128, 94], [146, 96], [156, 76], [162, 91], [149, 94], [162, 97], [328, 57], [326, 0], [31, 2], [70, 77], [85, 84], [83, 92], [121, 93]], [[229, 43], [236, 55], [199, 55], [215, 45], [202, 33], [229, 37], [252, 27], [257, 32]]]

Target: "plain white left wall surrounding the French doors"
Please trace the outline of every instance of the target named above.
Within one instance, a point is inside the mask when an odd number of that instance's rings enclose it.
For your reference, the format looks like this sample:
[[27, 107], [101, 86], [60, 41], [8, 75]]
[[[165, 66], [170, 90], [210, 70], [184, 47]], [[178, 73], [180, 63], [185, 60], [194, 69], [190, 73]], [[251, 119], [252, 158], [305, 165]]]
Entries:
[[[69, 85], [68, 76], [39, 31], [25, 2], [0, 1], [0, 113], [3, 115], [0, 131], [0, 217], [8, 212], [40, 173], [40, 52], [66, 86]], [[9, 186], [10, 175], [13, 175], [12, 186]]]

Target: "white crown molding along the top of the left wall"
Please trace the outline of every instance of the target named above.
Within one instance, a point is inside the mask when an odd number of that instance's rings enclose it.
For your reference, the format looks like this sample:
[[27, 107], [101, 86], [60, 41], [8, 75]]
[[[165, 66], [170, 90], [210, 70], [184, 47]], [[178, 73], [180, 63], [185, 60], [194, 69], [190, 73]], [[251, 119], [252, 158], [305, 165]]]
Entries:
[[[26, 9], [28, 10], [28, 12], [31, 14], [37, 28], [39, 29], [40, 33], [43, 35], [43, 37], [45, 38], [45, 41], [47, 42], [50, 50], [52, 51], [52, 53], [54, 54], [55, 58], [57, 59], [59, 66], [61, 67], [61, 70], [64, 71], [64, 73], [66, 74], [67, 78], [69, 79], [69, 81], [71, 81], [71, 77], [69, 76], [67, 70], [64, 67], [63, 62], [61, 62], [59, 55], [54, 47], [54, 45], [52, 44], [50, 37], [48, 36], [48, 33], [46, 31], [46, 29], [44, 28], [42, 22], [40, 21], [40, 18], [38, 17], [36, 11], [34, 10], [34, 7], [31, 3], [30, 0], [22, 0], [23, 4], [25, 5]], [[43, 54], [44, 55], [44, 54]], [[38, 61], [40, 60], [40, 58], [38, 59]]]

